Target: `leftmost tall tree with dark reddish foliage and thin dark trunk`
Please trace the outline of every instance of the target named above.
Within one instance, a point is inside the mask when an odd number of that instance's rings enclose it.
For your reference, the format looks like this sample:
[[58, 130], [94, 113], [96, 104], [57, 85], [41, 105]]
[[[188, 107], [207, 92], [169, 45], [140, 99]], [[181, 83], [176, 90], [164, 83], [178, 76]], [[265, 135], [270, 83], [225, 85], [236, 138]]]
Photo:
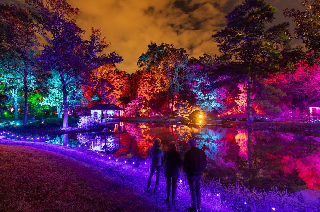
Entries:
[[[17, 79], [23, 82], [24, 117], [23, 125], [27, 125], [29, 90], [35, 81], [37, 65], [36, 50], [39, 42], [33, 28], [33, 20], [27, 9], [13, 4], [0, 4], [0, 19], [4, 28], [4, 47], [0, 55], [0, 65], [11, 72], [18, 74]], [[16, 116], [15, 112], [15, 116]]]

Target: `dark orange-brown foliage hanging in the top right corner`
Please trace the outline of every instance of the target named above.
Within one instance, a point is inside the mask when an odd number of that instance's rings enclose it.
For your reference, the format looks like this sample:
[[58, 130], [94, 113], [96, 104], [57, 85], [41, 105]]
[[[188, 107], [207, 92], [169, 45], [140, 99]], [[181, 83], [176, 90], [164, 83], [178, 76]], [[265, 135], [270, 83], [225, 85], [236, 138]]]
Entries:
[[300, 39], [305, 48], [308, 49], [306, 54], [306, 68], [319, 63], [320, 58], [320, 1], [305, 0], [301, 4], [306, 7], [306, 11], [296, 9], [283, 11], [285, 17], [289, 17], [296, 23], [294, 36], [291, 38]]

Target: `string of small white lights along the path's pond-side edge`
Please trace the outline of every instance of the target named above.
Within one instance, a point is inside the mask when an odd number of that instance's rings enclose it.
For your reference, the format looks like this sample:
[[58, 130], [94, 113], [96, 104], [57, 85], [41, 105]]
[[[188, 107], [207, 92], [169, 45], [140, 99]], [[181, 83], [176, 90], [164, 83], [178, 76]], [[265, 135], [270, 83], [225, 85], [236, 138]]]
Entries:
[[[11, 139], [23, 139], [25, 137], [25, 139], [27, 141], [33, 141], [33, 140], [41, 140], [41, 139], [46, 139], [45, 141], [54, 141], [54, 139], [52, 139], [52, 137], [50, 136], [24, 136], [24, 135], [18, 135], [18, 134], [14, 134], [14, 133], [10, 133], [8, 130], [4, 130], [2, 132], [0, 132], [0, 136], [5, 136], [8, 138], [11, 138]], [[67, 146], [69, 146], [69, 144], [67, 144]], [[72, 145], [72, 147], [76, 147], [76, 145]], [[81, 147], [81, 145], [79, 144], [78, 147]], [[86, 147], [86, 144], [84, 144], [84, 147]], [[96, 150], [97, 151], [97, 154], [100, 153], [99, 150]], [[101, 154], [101, 157], [103, 157], [104, 154]], [[108, 159], [111, 160], [111, 159], [115, 159], [116, 161], [119, 161], [119, 158], [117, 157], [111, 157], [111, 156], [108, 156]], [[130, 161], [130, 159], [127, 159], [127, 158], [124, 158], [124, 163], [125, 164], [129, 164], [128, 162]], [[147, 162], [145, 161], [145, 159], [135, 159], [132, 164], [140, 164], [141, 161], [144, 161], [144, 165], [147, 165]], [[182, 178], [185, 179], [184, 176], [182, 176]], [[181, 184], [183, 181], [182, 179], [179, 180], [179, 183]], [[289, 205], [289, 206], [293, 206], [293, 207], [303, 207], [303, 208], [310, 208], [310, 209], [314, 209], [314, 210], [318, 210], [319, 207], [310, 207], [310, 206], [301, 206], [301, 205], [295, 205], [295, 204], [289, 204], [289, 203], [284, 203], [284, 202], [277, 202], [277, 201], [272, 201], [272, 200], [266, 200], [266, 199], [261, 199], [261, 198], [258, 198], [258, 197], [254, 197], [254, 196], [248, 196], [248, 195], [245, 195], [245, 194], [238, 194], [236, 192], [232, 192], [232, 191], [228, 191], [226, 189], [222, 189], [222, 188], [218, 188], [218, 187], [215, 187], [215, 186], [211, 186], [211, 185], [206, 185], [208, 187], [211, 187], [213, 190], [219, 190], [219, 191], [224, 191], [224, 192], [228, 192], [228, 193], [231, 193], [231, 194], [235, 194], [235, 195], [240, 195], [240, 196], [244, 196], [244, 197], [247, 197], [247, 198], [252, 198], [252, 199], [256, 199], [256, 200], [260, 200], [260, 201], [268, 201], [268, 202], [273, 202], [273, 203], [277, 203], [277, 204], [284, 204], [284, 205]], [[217, 197], [220, 197], [220, 194], [219, 193], [216, 193], [215, 194]], [[247, 201], [244, 201], [244, 204], [248, 204]], [[276, 210], [275, 207], [272, 207], [272, 210]]]

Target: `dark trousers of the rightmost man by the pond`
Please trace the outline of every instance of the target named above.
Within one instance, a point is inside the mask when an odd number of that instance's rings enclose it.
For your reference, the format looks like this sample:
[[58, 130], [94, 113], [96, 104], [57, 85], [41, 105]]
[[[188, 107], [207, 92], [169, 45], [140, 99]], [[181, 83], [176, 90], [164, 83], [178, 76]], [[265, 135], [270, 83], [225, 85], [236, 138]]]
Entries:
[[201, 178], [202, 175], [199, 176], [187, 176], [188, 184], [190, 187], [191, 193], [191, 205], [198, 206], [201, 205]]

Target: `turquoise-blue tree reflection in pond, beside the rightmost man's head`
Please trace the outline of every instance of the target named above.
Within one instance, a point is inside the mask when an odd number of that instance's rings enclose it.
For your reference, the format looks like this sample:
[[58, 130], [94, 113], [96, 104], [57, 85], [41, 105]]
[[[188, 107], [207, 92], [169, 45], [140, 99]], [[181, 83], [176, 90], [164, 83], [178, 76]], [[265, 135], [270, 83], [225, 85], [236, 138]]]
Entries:
[[205, 127], [200, 129], [199, 134], [196, 135], [198, 140], [198, 147], [204, 149], [207, 157], [215, 160], [218, 157], [226, 155], [227, 140], [222, 139], [226, 136], [227, 129], [218, 128], [218, 129], [208, 129]]

